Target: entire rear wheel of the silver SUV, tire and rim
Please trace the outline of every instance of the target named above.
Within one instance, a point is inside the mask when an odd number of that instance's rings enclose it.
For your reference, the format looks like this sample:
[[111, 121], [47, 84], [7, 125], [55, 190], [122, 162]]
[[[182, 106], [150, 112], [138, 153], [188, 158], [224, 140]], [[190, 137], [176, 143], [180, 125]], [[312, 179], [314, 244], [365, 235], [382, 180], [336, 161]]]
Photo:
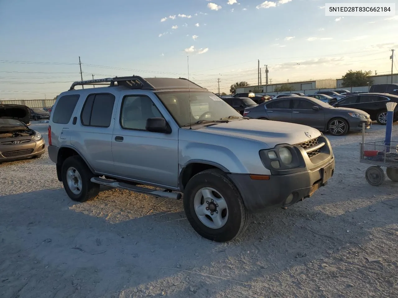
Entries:
[[91, 182], [94, 174], [80, 156], [71, 156], [64, 161], [61, 176], [66, 194], [73, 201], [86, 202], [100, 192], [100, 185]]

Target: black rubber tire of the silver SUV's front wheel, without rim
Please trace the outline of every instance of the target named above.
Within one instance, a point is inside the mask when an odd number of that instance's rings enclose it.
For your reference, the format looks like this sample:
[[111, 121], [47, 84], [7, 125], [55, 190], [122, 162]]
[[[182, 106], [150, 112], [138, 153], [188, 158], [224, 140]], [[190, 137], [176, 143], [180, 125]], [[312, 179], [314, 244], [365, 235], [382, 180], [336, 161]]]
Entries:
[[[195, 196], [203, 188], [213, 188], [222, 195], [226, 202], [227, 208], [224, 210], [228, 214], [228, 217], [225, 224], [220, 228], [206, 226], [195, 212]], [[246, 230], [252, 218], [252, 213], [244, 206], [242, 197], [236, 186], [219, 169], [204, 170], [193, 176], [185, 187], [183, 198], [185, 215], [193, 229], [202, 237], [212, 241], [227, 242], [235, 239]], [[204, 197], [201, 200], [204, 201], [203, 205], [207, 205]], [[223, 212], [221, 210], [221, 214]], [[206, 215], [206, 217], [209, 218], [210, 215]]]

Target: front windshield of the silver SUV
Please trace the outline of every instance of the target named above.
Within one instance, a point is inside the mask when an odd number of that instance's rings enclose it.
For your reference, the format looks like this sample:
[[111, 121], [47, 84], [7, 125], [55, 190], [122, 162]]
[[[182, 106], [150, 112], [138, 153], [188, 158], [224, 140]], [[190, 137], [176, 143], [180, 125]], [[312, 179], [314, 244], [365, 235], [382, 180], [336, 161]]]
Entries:
[[[209, 91], [164, 91], [156, 95], [164, 103], [179, 126], [199, 120], [217, 121], [229, 116], [242, 117], [239, 112]], [[189, 112], [191, 108], [192, 114]], [[190, 117], [191, 116], [191, 117]]]

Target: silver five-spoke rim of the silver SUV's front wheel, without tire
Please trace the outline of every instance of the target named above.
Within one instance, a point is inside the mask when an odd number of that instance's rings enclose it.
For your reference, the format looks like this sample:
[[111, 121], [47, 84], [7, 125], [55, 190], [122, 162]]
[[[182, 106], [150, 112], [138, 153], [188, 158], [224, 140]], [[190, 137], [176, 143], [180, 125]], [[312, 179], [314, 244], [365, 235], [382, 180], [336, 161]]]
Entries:
[[209, 228], [221, 228], [228, 220], [226, 201], [214, 188], [201, 188], [193, 199], [193, 206], [198, 219]]

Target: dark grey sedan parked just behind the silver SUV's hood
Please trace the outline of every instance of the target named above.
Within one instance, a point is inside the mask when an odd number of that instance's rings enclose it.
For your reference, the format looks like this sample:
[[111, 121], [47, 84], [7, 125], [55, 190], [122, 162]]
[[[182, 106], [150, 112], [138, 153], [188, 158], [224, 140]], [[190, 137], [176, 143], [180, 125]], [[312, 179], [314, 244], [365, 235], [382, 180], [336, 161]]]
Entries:
[[[332, 135], [360, 131], [362, 124], [370, 128], [370, 115], [354, 108], [335, 108], [312, 97], [273, 99], [254, 108], [246, 108], [244, 116], [308, 125]], [[265, 125], [266, 126], [266, 125]]]

